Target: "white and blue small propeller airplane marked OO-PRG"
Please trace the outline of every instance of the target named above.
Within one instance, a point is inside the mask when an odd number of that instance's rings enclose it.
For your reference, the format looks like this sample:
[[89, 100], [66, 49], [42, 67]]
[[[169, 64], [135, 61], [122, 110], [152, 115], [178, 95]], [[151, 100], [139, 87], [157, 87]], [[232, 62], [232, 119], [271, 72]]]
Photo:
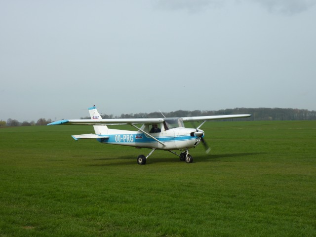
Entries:
[[[145, 157], [139, 155], [138, 164], [146, 164], [147, 158], [156, 150], [164, 150], [178, 156], [181, 161], [192, 163], [193, 158], [189, 149], [200, 142], [206, 153], [210, 151], [204, 141], [204, 131], [199, 129], [206, 121], [227, 118], [247, 118], [251, 115], [218, 115], [182, 118], [111, 118], [102, 119], [95, 106], [88, 108], [91, 119], [65, 119], [51, 122], [47, 125], [93, 125], [95, 134], [73, 135], [78, 139], [97, 139], [106, 144], [131, 146], [136, 148], [150, 148], [152, 151]], [[162, 114], [162, 113], [161, 113]], [[163, 116], [163, 114], [162, 114]], [[164, 116], [163, 116], [164, 117]], [[197, 128], [186, 128], [184, 122], [201, 122]], [[129, 124], [136, 131], [110, 129], [107, 125]], [[141, 124], [142, 126], [136, 126]], [[182, 151], [179, 154], [174, 150]]]

